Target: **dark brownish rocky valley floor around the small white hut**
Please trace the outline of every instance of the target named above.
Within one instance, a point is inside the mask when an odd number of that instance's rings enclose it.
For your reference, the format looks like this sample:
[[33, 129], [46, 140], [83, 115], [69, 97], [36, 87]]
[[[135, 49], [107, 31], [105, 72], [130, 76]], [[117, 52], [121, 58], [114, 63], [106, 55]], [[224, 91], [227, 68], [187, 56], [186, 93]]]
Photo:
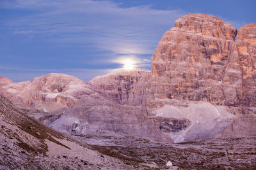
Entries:
[[255, 136], [177, 144], [131, 137], [91, 136], [83, 140], [93, 143], [102, 153], [129, 161], [134, 167], [141, 162], [151, 165], [152, 169], [165, 169], [166, 162], [170, 160], [173, 166], [180, 169], [256, 169]]

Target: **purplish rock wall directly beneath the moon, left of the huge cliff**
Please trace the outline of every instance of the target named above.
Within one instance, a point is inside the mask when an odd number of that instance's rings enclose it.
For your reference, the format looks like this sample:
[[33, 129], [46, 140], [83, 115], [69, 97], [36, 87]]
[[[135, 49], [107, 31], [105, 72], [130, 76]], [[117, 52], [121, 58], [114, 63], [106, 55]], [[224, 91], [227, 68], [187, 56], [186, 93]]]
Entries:
[[116, 103], [141, 106], [145, 99], [150, 97], [148, 92], [149, 79], [150, 71], [136, 69], [97, 76], [89, 83], [100, 95]]

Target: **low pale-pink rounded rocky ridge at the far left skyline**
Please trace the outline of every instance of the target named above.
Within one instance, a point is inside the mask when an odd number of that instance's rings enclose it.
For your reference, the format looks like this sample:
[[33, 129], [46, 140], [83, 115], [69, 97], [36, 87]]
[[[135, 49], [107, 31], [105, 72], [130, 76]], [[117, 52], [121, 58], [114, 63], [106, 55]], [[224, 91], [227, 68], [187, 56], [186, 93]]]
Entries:
[[42, 102], [54, 102], [72, 106], [83, 95], [93, 95], [94, 91], [85, 81], [67, 74], [49, 74], [35, 80], [12, 83], [1, 77], [0, 92], [13, 103], [35, 106]]

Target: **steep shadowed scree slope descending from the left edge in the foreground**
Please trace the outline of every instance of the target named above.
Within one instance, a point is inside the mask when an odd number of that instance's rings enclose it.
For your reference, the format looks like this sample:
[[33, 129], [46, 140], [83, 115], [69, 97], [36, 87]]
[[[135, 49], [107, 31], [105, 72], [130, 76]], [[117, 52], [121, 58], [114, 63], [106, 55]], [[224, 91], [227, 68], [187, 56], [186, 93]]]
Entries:
[[0, 95], [0, 169], [132, 169], [29, 118]]

